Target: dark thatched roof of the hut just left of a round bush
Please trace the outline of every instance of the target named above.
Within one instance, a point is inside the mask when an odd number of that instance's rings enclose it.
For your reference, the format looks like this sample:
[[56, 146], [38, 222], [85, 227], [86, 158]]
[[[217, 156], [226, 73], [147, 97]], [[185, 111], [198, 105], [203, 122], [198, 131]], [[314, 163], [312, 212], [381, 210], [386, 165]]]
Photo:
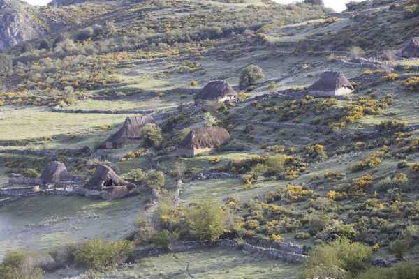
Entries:
[[196, 93], [196, 100], [218, 100], [227, 96], [237, 98], [237, 92], [224, 80], [214, 80]]

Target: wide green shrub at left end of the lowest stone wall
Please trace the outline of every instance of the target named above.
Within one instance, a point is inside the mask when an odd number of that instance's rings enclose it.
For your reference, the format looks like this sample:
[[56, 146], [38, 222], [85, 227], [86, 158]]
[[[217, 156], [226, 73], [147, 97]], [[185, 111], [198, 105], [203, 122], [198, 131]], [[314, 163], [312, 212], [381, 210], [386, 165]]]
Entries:
[[134, 250], [131, 241], [105, 242], [102, 239], [92, 239], [81, 244], [75, 250], [75, 264], [88, 269], [101, 270], [124, 262]]

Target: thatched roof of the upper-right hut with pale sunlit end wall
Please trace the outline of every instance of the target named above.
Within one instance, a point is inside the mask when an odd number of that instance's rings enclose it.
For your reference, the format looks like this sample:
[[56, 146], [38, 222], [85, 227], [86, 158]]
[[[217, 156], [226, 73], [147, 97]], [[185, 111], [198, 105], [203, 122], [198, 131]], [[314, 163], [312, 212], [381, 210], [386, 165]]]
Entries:
[[344, 73], [337, 70], [328, 70], [321, 74], [317, 82], [309, 86], [309, 91], [335, 91], [342, 87], [353, 90], [351, 82], [348, 81]]

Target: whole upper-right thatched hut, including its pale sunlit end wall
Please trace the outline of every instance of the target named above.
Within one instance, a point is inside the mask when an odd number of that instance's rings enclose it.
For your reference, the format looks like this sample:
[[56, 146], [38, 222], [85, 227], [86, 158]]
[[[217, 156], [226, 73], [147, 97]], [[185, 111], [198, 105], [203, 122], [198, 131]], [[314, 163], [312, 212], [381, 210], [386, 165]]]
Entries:
[[309, 86], [309, 95], [314, 97], [335, 97], [351, 93], [353, 86], [344, 73], [328, 70], [322, 73], [320, 79]]

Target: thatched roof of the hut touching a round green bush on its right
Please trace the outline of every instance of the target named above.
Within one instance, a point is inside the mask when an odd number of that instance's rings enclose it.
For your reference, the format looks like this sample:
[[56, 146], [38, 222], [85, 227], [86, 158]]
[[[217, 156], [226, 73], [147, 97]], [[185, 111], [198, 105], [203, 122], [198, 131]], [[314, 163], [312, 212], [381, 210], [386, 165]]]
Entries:
[[117, 133], [108, 137], [107, 142], [117, 142], [123, 144], [127, 140], [139, 139], [140, 130], [148, 123], [156, 123], [152, 116], [134, 116], [127, 117], [124, 124]]

